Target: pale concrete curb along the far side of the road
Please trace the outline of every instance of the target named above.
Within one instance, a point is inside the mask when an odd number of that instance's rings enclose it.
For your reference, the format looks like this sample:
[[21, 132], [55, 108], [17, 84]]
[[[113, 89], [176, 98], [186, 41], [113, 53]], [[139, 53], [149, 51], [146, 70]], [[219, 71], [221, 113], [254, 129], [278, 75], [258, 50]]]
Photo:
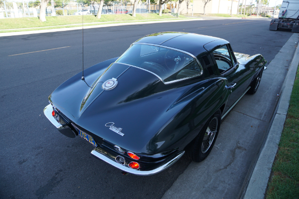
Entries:
[[[131, 23], [112, 23], [112, 24], [101, 24], [101, 25], [84, 26], [84, 29], [101, 28], [101, 27], [112, 27], [112, 26], [120, 26], [120, 25], [137, 25], [137, 24], [167, 23], [167, 22], [177, 22], [177, 21], [198, 21], [198, 20], [203, 20], [203, 19], [202, 18], [196, 18], [196, 19], [192, 18], [192, 19], [178, 19], [178, 20], [176, 19], [176, 20], [163, 20], [163, 21], [144, 21], [144, 22], [131, 22]], [[60, 32], [60, 31], [69, 31], [69, 30], [82, 30], [82, 26], [81, 27], [70, 27], [70, 28], [46, 29], [46, 30], [30, 30], [30, 31], [21, 31], [21, 32], [5, 32], [5, 33], [0, 33], [0, 37], [16, 36], [16, 35], [26, 35], [26, 34], [39, 34], [39, 33], [47, 33], [47, 32]]]

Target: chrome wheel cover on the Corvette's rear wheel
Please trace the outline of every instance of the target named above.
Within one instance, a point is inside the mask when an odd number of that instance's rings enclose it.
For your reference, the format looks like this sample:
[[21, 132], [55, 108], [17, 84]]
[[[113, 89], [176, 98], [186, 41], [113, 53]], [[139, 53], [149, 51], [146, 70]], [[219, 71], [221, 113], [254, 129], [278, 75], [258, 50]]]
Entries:
[[217, 133], [217, 127], [218, 127], [218, 118], [213, 117], [206, 131], [204, 132], [204, 136], [201, 144], [201, 153], [206, 153], [211, 147], [215, 135]]

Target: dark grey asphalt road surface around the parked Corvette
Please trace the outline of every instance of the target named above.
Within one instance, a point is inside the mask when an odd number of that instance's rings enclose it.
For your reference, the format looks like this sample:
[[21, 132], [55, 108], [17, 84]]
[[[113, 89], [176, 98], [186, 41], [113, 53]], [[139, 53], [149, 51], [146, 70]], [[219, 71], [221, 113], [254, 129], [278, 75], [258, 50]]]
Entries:
[[[87, 29], [84, 31], [84, 65], [89, 67], [118, 57], [134, 41], [161, 31], [220, 37], [230, 41], [235, 52], [261, 53], [270, 62], [293, 33], [269, 31], [269, 23], [270, 20], [263, 19], [221, 19]], [[47, 120], [43, 108], [48, 104], [48, 96], [82, 70], [82, 31], [0, 37], [0, 44], [0, 198], [161, 198], [188, 167], [190, 161], [183, 156], [169, 169], [154, 176], [123, 176], [120, 170], [93, 158], [91, 145], [80, 138], [63, 136]], [[286, 65], [292, 61], [287, 59]], [[266, 78], [271, 80], [272, 77]], [[266, 80], [262, 80], [258, 92], [268, 90]], [[280, 82], [278, 84], [283, 83]], [[259, 101], [251, 100], [251, 105]], [[230, 145], [225, 143], [215, 145], [214, 149], [224, 152], [218, 154], [219, 160], [227, 159], [228, 165], [222, 165], [223, 169], [229, 170], [232, 161], [236, 162], [233, 151], [244, 151], [246, 141], [253, 140], [247, 143], [254, 150], [247, 154], [246, 162], [227, 172], [230, 178], [238, 176], [238, 180], [227, 184], [223, 176], [217, 179], [213, 174], [209, 175], [211, 179], [223, 182], [224, 198], [239, 196], [250, 162], [255, 160], [263, 143], [275, 103], [276, 100], [269, 101], [267, 111], [261, 115], [264, 125], [257, 130], [259, 136], [244, 133], [240, 136], [241, 143], [236, 141], [235, 149], [227, 148]], [[241, 104], [239, 111], [248, 105], [244, 101]], [[228, 124], [240, 125], [229, 118], [224, 120], [225, 123], [226, 130]], [[230, 138], [226, 139], [229, 142]], [[205, 161], [199, 164], [205, 167]], [[199, 179], [198, 183], [204, 181]]]

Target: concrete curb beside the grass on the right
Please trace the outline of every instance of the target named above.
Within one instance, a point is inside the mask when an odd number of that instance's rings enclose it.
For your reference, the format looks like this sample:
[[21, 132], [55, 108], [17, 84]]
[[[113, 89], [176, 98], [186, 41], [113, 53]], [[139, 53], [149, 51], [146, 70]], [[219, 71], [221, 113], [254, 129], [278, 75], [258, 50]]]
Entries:
[[[298, 33], [294, 33], [298, 34]], [[271, 63], [270, 63], [271, 64]], [[245, 196], [243, 199], [264, 199], [268, 181], [272, 171], [272, 165], [278, 150], [281, 134], [287, 117], [293, 85], [299, 64], [299, 48], [296, 49], [282, 87], [281, 98], [278, 102], [277, 112], [269, 130], [267, 140], [261, 150], [259, 159], [254, 167]]]

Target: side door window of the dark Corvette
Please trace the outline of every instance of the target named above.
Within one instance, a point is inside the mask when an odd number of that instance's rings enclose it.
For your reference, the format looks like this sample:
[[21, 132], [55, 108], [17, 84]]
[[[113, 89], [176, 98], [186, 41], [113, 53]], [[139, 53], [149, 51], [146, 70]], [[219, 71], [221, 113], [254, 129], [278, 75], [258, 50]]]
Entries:
[[226, 72], [231, 67], [233, 67], [234, 61], [226, 45], [214, 50], [213, 54], [216, 59], [217, 67], [219, 69], [220, 74]]

